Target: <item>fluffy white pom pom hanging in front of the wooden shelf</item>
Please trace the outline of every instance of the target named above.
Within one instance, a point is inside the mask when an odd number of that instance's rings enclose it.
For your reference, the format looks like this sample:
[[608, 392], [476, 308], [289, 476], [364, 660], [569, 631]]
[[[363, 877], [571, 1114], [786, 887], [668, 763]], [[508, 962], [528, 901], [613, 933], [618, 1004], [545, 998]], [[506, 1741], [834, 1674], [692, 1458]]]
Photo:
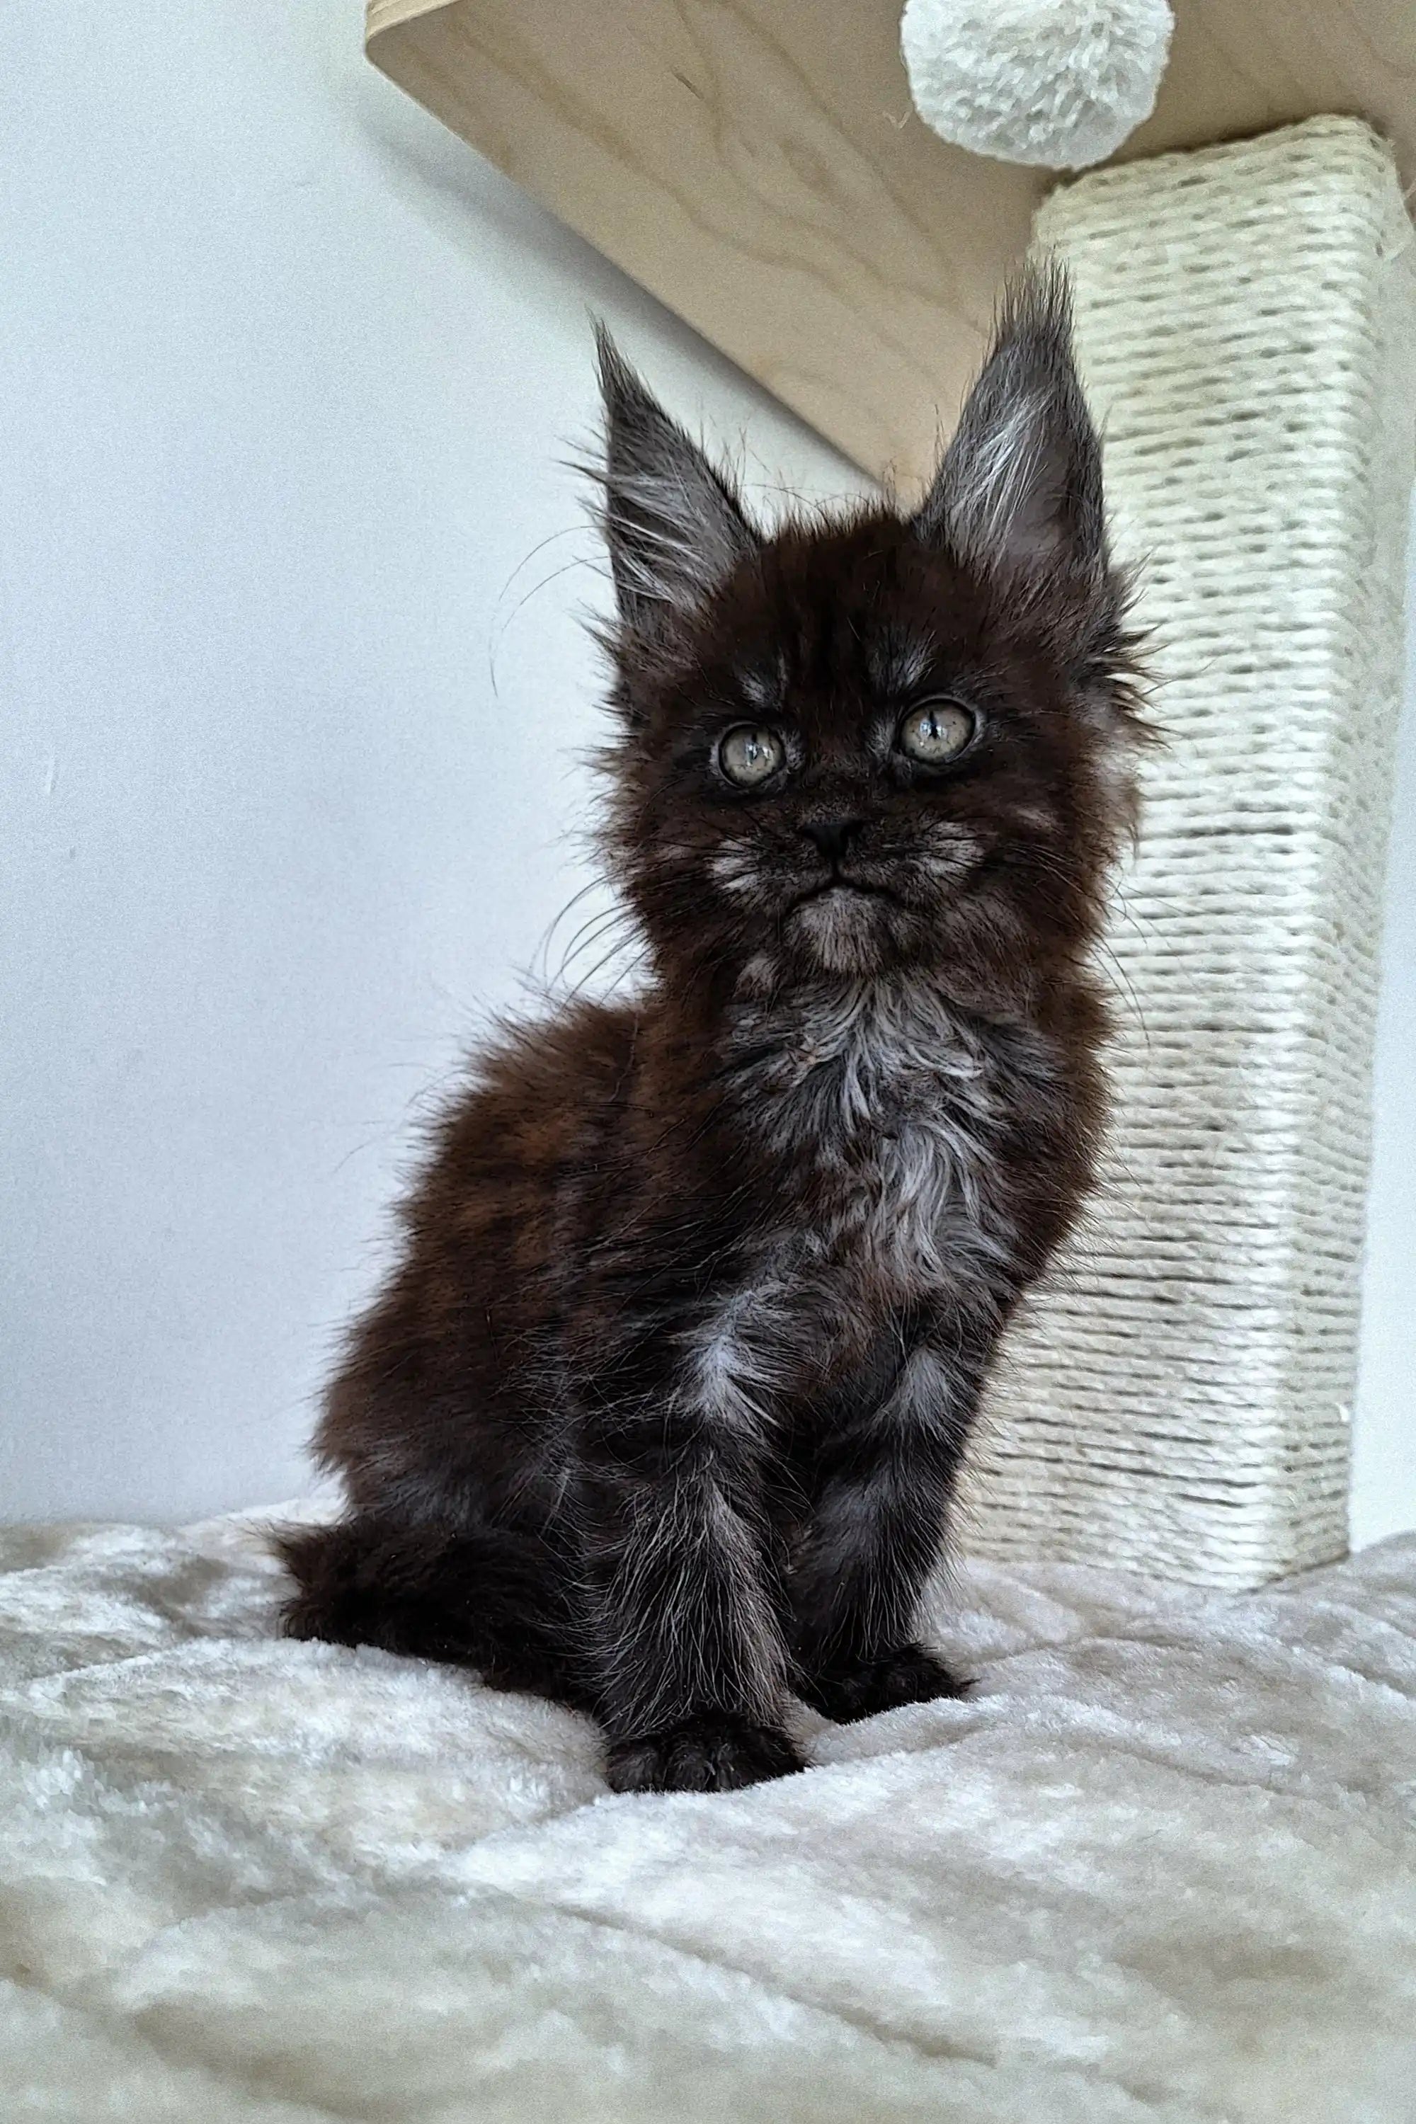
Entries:
[[1168, 0], [906, 0], [900, 49], [945, 140], [1085, 170], [1151, 117], [1172, 28]]

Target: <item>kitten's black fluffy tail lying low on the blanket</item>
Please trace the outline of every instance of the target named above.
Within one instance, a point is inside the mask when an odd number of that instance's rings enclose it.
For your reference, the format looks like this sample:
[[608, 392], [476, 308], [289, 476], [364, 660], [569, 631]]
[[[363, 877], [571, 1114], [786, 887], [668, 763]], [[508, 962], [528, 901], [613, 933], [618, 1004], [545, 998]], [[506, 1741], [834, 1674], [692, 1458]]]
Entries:
[[295, 1580], [289, 1638], [376, 1644], [476, 1667], [495, 1689], [526, 1689], [592, 1710], [569, 1650], [563, 1561], [501, 1527], [454, 1531], [361, 1514], [274, 1538]]

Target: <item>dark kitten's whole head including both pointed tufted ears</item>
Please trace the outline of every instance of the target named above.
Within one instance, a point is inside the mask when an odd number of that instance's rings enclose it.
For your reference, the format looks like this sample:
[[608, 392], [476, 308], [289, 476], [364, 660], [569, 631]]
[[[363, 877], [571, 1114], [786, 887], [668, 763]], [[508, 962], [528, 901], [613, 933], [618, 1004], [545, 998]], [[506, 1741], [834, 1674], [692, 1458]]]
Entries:
[[609, 852], [658, 960], [1025, 1003], [1134, 822], [1123, 588], [1066, 285], [1030, 270], [913, 516], [762, 535], [601, 338]]

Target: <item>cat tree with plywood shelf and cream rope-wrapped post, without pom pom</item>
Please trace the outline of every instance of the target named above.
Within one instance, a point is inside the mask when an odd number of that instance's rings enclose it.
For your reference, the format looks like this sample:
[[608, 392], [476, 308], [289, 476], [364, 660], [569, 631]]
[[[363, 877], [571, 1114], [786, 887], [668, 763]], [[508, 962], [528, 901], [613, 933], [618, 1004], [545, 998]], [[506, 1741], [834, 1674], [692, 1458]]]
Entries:
[[1170, 743], [1110, 937], [1106, 1189], [1013, 1338], [964, 1538], [1236, 1589], [1340, 1555], [1414, 452], [1416, 11], [1178, 0], [1153, 117], [1064, 185], [919, 123], [898, 0], [372, 0], [369, 53], [902, 484], [1034, 215], [1068, 261]]

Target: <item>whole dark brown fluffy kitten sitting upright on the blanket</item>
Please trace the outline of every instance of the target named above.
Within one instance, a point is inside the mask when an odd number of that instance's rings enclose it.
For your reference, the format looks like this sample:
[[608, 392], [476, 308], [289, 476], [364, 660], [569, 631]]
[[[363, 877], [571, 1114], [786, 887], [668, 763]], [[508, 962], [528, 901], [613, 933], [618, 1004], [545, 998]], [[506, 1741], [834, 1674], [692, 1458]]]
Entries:
[[1123, 597], [1066, 291], [915, 516], [773, 537], [601, 344], [609, 864], [652, 975], [507, 1032], [318, 1432], [301, 1638], [592, 1710], [618, 1788], [957, 1691], [915, 1638], [979, 1389], [1102, 1121]]

